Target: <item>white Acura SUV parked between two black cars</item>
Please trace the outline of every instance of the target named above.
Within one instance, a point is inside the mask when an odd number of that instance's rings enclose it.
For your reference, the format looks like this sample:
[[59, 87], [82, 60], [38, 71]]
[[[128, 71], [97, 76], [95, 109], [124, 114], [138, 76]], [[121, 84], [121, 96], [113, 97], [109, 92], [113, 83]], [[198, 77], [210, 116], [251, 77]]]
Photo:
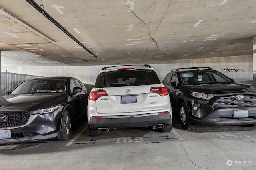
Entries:
[[150, 65], [102, 68], [88, 99], [91, 136], [99, 136], [111, 128], [172, 130], [168, 91]]

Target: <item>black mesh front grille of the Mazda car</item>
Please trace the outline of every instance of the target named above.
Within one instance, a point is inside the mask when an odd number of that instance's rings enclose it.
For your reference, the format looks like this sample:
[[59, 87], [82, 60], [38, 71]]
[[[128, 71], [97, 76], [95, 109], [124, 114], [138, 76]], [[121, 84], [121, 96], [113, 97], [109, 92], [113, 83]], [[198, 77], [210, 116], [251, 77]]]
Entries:
[[9, 112], [9, 113], [1, 113], [1, 115], [6, 115], [7, 121], [0, 122], [0, 128], [8, 128], [8, 127], [17, 127], [25, 125], [28, 122], [28, 118], [30, 113], [28, 112]]

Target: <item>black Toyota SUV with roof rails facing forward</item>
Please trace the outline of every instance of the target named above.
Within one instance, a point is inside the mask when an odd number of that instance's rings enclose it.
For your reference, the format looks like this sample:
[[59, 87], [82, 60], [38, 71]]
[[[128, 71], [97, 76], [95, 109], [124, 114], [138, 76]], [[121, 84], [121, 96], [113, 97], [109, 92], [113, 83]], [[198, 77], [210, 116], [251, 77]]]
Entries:
[[256, 88], [210, 67], [172, 70], [162, 84], [184, 129], [194, 125], [256, 125]]

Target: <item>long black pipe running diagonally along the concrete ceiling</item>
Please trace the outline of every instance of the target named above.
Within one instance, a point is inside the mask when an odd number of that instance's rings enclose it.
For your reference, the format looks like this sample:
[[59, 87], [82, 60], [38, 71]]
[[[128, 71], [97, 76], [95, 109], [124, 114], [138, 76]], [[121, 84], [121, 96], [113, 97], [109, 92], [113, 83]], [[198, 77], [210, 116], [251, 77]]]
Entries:
[[97, 58], [97, 56], [92, 53], [92, 51], [90, 51], [88, 48], [86, 48], [80, 41], [78, 41], [78, 39], [76, 39], [71, 33], [69, 33], [62, 25], [60, 25], [60, 23], [58, 23], [56, 20], [54, 20], [54, 18], [52, 18], [52, 16], [50, 16], [45, 10], [44, 8], [41, 8], [41, 6], [39, 6], [38, 4], [36, 4], [36, 2], [34, 2], [34, 0], [26, 0], [26, 2], [28, 2], [31, 6], [33, 6], [36, 10], [38, 10], [38, 12], [40, 12], [43, 16], [45, 16], [48, 20], [50, 20], [52, 23], [54, 23], [54, 25], [56, 25], [59, 29], [61, 29], [64, 33], [66, 33], [70, 38], [72, 38], [74, 41], [76, 41], [76, 43], [78, 43], [81, 47], [83, 47], [86, 51], [88, 51], [93, 57]]

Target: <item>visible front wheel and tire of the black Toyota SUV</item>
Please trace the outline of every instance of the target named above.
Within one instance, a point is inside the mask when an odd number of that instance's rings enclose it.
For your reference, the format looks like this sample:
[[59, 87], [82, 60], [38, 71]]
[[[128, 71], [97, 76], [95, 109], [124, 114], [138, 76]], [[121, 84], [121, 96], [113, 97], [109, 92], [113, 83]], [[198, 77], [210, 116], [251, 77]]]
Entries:
[[179, 107], [180, 113], [180, 124], [183, 129], [194, 129], [195, 125], [190, 122], [188, 108], [186, 107], [185, 103], [182, 102]]

